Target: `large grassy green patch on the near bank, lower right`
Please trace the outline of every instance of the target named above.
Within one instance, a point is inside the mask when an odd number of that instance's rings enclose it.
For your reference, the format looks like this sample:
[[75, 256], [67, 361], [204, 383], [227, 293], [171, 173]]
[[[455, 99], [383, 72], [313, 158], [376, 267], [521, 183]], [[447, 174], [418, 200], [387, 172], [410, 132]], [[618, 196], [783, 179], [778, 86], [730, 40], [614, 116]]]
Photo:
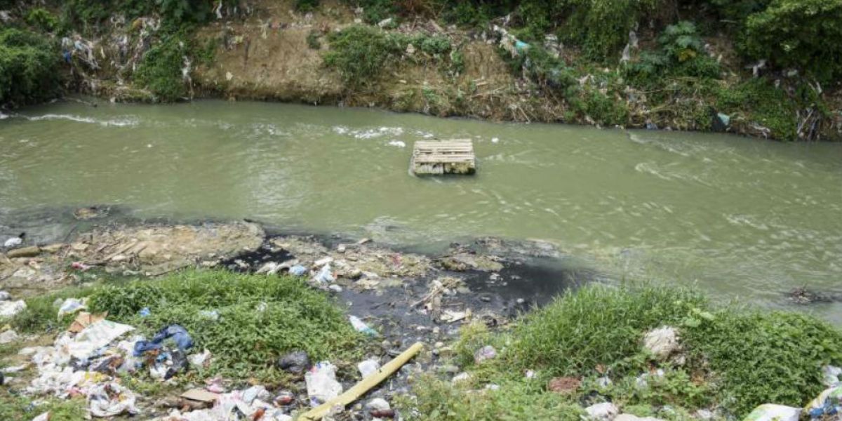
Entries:
[[[682, 365], [642, 349], [643, 333], [664, 325], [679, 328]], [[474, 352], [487, 344], [498, 358], [475, 364]], [[679, 419], [716, 406], [742, 417], [762, 403], [806, 404], [823, 390], [821, 366], [842, 361], [839, 349], [842, 333], [802, 314], [712, 306], [690, 290], [589, 286], [504, 332], [463, 329], [456, 362], [471, 380], [451, 386], [425, 377], [415, 385], [417, 400], [402, 404], [435, 413], [430, 419], [520, 419], [553, 411], [575, 418], [571, 406], [604, 401], [641, 416]], [[663, 376], [653, 375], [655, 369]], [[526, 370], [536, 377], [527, 378]], [[550, 392], [546, 385], [555, 376], [582, 382], [569, 394]]]

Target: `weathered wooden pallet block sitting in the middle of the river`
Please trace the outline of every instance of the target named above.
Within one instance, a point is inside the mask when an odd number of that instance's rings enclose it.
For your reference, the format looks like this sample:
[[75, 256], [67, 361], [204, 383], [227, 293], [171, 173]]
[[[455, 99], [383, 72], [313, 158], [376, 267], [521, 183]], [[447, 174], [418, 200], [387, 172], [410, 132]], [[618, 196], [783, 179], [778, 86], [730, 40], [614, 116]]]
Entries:
[[417, 175], [472, 174], [477, 170], [470, 139], [416, 141], [410, 169]]

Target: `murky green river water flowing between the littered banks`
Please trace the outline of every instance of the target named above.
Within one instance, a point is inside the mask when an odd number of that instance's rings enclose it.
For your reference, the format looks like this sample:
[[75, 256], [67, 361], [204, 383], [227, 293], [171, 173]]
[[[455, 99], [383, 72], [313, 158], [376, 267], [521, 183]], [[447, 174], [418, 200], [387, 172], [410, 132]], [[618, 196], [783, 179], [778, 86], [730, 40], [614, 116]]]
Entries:
[[[797, 286], [842, 291], [842, 145], [222, 101], [22, 115], [0, 120], [6, 226], [118, 204], [429, 248], [540, 238], [615, 279], [772, 306]], [[474, 140], [476, 176], [408, 174], [413, 141], [455, 137]], [[842, 306], [813, 309], [842, 322]]]

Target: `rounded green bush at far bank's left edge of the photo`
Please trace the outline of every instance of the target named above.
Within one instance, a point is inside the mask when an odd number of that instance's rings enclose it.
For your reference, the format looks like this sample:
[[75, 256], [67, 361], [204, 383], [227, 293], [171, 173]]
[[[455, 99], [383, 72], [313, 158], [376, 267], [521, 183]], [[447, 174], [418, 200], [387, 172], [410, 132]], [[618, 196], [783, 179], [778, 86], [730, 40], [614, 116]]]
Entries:
[[59, 90], [61, 56], [52, 40], [24, 29], [0, 29], [0, 104], [30, 104]]

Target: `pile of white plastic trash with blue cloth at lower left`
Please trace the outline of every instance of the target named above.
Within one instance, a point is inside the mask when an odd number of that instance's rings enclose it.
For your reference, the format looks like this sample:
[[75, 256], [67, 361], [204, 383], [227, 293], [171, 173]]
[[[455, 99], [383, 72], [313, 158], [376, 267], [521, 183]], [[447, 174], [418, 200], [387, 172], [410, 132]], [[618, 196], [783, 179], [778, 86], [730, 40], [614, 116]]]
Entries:
[[94, 417], [136, 414], [137, 397], [120, 384], [117, 376], [148, 370], [165, 381], [188, 370], [190, 363], [205, 365], [210, 353], [187, 355], [193, 340], [184, 328], [169, 325], [151, 339], [124, 338], [135, 328], [106, 320], [105, 314], [85, 312], [85, 300], [69, 298], [59, 303], [59, 317], [76, 314], [66, 332], [52, 346], [24, 348], [38, 375], [26, 387], [33, 396], [61, 399], [83, 396]]

